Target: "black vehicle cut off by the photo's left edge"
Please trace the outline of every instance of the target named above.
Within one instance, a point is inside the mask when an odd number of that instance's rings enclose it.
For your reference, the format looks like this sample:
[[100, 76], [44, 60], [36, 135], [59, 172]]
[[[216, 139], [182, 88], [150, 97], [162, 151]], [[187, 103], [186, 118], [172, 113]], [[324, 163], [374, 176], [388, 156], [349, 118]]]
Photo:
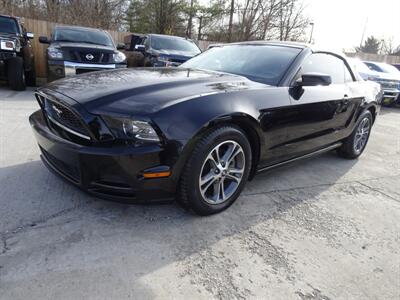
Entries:
[[32, 38], [18, 18], [0, 15], [0, 79], [13, 90], [36, 84]]

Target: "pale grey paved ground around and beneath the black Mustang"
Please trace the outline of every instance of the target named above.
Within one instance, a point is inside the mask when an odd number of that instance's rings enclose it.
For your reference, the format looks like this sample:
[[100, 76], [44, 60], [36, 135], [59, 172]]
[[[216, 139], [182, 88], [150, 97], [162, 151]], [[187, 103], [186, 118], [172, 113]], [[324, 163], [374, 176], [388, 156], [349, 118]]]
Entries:
[[88, 196], [39, 160], [32, 90], [0, 88], [1, 299], [400, 299], [400, 109], [357, 161], [250, 182], [227, 211]]

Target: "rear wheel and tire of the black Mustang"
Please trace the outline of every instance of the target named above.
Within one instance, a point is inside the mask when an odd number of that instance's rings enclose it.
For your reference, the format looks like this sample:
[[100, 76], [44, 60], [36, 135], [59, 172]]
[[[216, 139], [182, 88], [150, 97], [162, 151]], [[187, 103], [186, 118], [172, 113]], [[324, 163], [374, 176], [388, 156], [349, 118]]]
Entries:
[[367, 146], [373, 124], [372, 114], [369, 110], [363, 112], [352, 134], [343, 141], [337, 150], [341, 157], [348, 159], [358, 158]]

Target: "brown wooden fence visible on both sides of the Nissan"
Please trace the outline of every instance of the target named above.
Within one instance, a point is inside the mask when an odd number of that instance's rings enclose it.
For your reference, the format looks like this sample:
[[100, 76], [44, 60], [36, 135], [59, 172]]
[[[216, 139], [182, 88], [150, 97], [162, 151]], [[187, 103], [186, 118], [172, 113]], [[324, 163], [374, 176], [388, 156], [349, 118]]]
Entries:
[[[35, 34], [35, 38], [32, 40], [33, 53], [35, 55], [35, 68], [36, 75], [40, 78], [46, 77], [46, 48], [47, 45], [39, 43], [39, 36], [47, 36], [50, 37], [53, 29], [57, 24], [53, 22], [41, 21], [41, 20], [33, 20], [33, 19], [24, 19], [24, 26], [27, 31]], [[116, 43], [123, 43], [124, 37], [130, 32], [122, 32], [122, 31], [111, 31], [107, 30], [114, 41]]]

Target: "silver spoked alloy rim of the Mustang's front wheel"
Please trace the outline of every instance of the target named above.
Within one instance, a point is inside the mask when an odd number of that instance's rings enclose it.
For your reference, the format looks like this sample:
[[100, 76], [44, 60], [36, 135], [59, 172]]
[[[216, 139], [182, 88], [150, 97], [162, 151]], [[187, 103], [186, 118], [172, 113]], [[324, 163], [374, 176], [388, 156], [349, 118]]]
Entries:
[[245, 171], [245, 155], [235, 141], [224, 141], [207, 155], [201, 168], [199, 188], [209, 204], [227, 201], [237, 190]]

